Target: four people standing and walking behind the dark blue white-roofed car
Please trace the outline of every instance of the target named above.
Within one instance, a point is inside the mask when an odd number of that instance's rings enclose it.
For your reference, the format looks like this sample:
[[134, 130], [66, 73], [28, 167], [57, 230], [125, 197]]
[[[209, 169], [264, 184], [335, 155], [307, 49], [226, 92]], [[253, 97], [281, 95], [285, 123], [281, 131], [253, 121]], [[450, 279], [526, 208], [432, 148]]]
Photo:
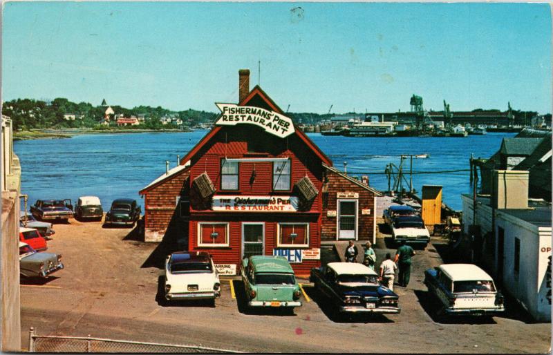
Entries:
[[[369, 269], [375, 271], [376, 253], [373, 250], [371, 242], [366, 242], [363, 264]], [[353, 240], [349, 241], [346, 248], [346, 262], [357, 262], [359, 251]], [[395, 271], [399, 269], [397, 285], [407, 287], [411, 278], [411, 257], [415, 256], [415, 251], [403, 240], [392, 260], [390, 253], [386, 253], [386, 260], [380, 263], [379, 280], [388, 289], [393, 291], [393, 282], [395, 280]]]

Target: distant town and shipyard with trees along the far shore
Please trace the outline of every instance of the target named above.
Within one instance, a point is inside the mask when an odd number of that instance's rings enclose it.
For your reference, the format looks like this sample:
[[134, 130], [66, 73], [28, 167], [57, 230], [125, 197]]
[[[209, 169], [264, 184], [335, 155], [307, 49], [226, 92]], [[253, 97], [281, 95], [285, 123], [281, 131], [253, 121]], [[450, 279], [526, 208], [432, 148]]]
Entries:
[[[437, 135], [463, 137], [485, 134], [487, 131], [518, 132], [525, 127], [551, 129], [551, 114], [521, 111], [507, 103], [507, 109], [476, 108], [472, 111], [451, 111], [444, 100], [442, 111], [424, 109], [422, 97], [413, 95], [410, 111], [366, 113], [289, 113], [295, 124], [305, 132], [323, 135], [416, 136]], [[182, 130], [210, 128], [216, 113], [189, 108], [171, 111], [166, 108], [135, 106], [124, 108], [110, 105], [106, 99], [98, 106], [71, 102], [65, 98], [53, 100], [15, 99], [3, 103], [2, 114], [12, 118], [15, 131], [67, 128], [88, 128], [98, 131], [118, 129]]]

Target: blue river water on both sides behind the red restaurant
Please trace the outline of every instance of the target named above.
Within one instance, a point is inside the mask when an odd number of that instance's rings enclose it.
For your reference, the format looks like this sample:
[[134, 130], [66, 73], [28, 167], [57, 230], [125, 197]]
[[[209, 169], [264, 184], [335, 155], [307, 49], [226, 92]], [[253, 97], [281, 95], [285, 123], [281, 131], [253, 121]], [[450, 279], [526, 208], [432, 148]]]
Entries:
[[[14, 142], [21, 161], [21, 193], [37, 199], [97, 195], [109, 209], [115, 198], [136, 198], [138, 191], [176, 166], [176, 156], [184, 156], [207, 131], [182, 133], [131, 133], [77, 135], [62, 140]], [[429, 154], [429, 159], [413, 159], [413, 171], [469, 169], [469, 157], [489, 157], [503, 137], [513, 133], [488, 133], [453, 137], [341, 137], [308, 133], [310, 139], [330, 157], [338, 169], [348, 163], [348, 174], [383, 173], [386, 164], [400, 163], [401, 154]], [[409, 160], [407, 161], [409, 169]], [[361, 173], [356, 173], [361, 172]], [[367, 175], [367, 174], [363, 174]], [[388, 188], [384, 174], [368, 174], [371, 186]], [[460, 194], [471, 191], [469, 172], [413, 175], [418, 191], [423, 184], [444, 186], [443, 200], [461, 209]], [[406, 186], [408, 187], [408, 186]], [[142, 210], [144, 210], [142, 206]]]

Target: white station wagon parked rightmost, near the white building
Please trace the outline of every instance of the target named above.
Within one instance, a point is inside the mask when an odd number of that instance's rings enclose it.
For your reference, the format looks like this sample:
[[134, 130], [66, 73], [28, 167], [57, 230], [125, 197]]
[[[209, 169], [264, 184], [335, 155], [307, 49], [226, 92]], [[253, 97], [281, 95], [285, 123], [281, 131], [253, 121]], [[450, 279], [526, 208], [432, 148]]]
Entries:
[[445, 264], [424, 271], [424, 284], [440, 303], [439, 316], [493, 316], [505, 311], [494, 280], [472, 264]]

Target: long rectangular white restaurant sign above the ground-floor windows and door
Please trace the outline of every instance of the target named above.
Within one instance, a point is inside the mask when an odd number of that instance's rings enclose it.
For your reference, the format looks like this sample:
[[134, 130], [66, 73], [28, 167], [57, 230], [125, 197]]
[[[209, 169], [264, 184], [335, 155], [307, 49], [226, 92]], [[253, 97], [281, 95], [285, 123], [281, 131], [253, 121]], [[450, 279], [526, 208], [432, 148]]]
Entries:
[[214, 195], [213, 211], [227, 212], [296, 212], [296, 196], [232, 196]]

